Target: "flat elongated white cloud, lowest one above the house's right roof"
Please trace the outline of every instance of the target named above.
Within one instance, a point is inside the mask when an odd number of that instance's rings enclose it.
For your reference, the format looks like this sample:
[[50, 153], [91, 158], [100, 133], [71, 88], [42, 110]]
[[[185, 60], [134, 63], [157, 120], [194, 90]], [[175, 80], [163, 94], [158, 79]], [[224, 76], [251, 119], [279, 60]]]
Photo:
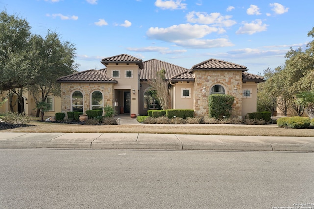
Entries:
[[194, 49], [204, 49], [204, 48], [218, 48], [218, 47], [227, 47], [234, 46], [228, 39], [190, 39], [190, 40], [178, 40], [175, 41], [176, 45], [194, 48]]

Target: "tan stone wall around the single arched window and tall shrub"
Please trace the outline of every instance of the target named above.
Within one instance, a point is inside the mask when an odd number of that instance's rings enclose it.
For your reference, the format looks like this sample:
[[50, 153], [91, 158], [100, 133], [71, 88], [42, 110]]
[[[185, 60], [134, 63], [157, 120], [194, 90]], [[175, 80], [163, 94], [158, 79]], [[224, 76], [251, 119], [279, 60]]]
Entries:
[[[216, 84], [225, 88], [225, 93], [235, 97], [232, 105], [232, 118], [242, 117], [242, 71], [195, 70], [194, 110], [196, 117], [208, 116], [208, 96]], [[206, 93], [202, 93], [202, 88]], [[236, 93], [234, 93], [234, 89]]]

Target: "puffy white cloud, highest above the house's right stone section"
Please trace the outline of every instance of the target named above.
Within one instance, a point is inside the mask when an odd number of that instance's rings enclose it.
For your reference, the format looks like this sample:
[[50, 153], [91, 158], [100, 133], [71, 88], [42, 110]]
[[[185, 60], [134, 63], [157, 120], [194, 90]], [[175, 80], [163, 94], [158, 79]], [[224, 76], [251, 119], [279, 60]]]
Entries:
[[190, 23], [213, 24], [213, 26], [230, 27], [236, 24], [236, 21], [230, 20], [232, 16], [222, 16], [218, 12], [207, 14], [206, 12], [189, 12], [186, 19]]

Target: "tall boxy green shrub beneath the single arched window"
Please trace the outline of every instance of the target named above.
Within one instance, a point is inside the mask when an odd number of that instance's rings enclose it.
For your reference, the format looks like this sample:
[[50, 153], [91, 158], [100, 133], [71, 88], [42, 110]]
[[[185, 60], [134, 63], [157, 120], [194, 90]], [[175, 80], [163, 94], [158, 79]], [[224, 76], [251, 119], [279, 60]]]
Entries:
[[235, 98], [231, 95], [225, 94], [212, 94], [208, 98], [208, 112], [209, 117], [214, 117], [216, 119], [223, 118], [226, 116], [227, 118], [231, 115], [232, 104]]

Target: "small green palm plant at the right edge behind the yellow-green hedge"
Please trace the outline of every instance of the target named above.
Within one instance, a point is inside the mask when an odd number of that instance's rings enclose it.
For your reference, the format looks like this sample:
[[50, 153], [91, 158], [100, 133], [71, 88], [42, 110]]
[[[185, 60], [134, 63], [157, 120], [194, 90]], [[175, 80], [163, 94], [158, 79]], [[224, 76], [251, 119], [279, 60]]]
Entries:
[[314, 118], [314, 89], [311, 91], [300, 92], [296, 95], [297, 102], [305, 107], [310, 119]]

